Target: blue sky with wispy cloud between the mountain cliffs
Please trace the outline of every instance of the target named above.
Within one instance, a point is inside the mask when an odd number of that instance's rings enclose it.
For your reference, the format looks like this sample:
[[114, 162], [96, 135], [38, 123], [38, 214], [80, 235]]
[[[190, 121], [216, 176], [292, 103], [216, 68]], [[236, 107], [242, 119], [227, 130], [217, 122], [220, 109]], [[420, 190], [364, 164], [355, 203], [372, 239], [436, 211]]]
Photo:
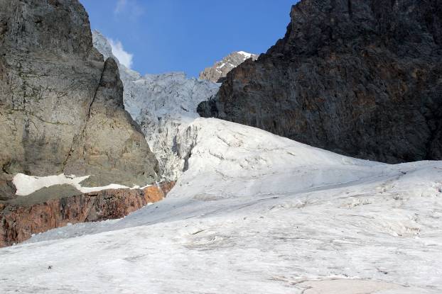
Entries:
[[[80, 0], [92, 29], [141, 74], [198, 77], [233, 51], [266, 52], [284, 37], [296, 0]], [[117, 56], [118, 57], [118, 56]]]

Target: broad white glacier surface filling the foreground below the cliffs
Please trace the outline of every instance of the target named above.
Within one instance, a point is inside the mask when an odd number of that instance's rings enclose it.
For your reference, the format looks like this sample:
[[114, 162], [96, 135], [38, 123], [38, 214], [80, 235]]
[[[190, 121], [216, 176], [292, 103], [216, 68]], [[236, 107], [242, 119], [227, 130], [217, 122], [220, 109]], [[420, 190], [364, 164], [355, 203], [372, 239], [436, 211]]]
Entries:
[[0, 293], [442, 293], [442, 162], [216, 119], [177, 140], [191, 156], [166, 200], [0, 249]]

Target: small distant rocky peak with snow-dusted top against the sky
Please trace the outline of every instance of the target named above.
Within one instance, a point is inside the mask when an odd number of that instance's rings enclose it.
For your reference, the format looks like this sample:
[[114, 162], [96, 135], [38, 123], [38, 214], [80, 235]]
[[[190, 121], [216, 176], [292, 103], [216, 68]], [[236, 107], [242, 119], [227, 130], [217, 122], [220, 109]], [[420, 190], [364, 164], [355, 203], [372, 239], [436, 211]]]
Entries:
[[207, 79], [215, 83], [221, 83], [225, 80], [227, 74], [242, 62], [252, 59], [257, 60], [258, 55], [247, 53], [244, 51], [232, 52], [224, 57], [221, 61], [215, 62], [212, 67], [207, 67], [200, 72], [200, 79]]

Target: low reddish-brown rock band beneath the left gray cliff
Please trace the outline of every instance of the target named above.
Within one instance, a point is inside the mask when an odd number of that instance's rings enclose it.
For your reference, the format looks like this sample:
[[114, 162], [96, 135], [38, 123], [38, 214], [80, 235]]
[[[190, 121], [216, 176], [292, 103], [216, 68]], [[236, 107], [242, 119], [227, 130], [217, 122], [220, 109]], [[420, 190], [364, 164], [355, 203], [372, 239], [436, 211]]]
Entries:
[[[68, 185], [52, 186], [9, 202], [0, 202], [0, 247], [23, 242], [32, 234], [77, 222], [124, 217], [148, 203], [163, 199], [175, 183], [144, 189], [115, 189], [80, 193]], [[71, 194], [65, 197], [63, 193]], [[43, 202], [33, 199], [44, 199]]]

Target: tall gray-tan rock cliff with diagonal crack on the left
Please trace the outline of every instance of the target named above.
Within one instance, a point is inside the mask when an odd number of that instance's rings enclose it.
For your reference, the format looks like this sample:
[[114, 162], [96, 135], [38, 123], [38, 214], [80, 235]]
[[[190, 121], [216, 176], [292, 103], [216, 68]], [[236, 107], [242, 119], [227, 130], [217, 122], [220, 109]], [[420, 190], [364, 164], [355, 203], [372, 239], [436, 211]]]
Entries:
[[0, 0], [0, 195], [19, 172], [152, 183], [157, 162], [122, 91], [77, 0]]

